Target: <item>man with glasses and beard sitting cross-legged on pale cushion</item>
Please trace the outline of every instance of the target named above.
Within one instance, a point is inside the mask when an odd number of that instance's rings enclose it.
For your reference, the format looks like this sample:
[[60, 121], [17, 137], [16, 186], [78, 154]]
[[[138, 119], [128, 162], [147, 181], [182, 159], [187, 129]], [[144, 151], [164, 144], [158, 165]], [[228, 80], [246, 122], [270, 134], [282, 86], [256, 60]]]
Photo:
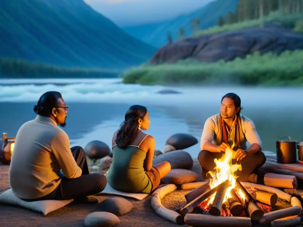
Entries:
[[83, 148], [70, 148], [68, 135], [58, 127], [65, 127], [68, 113], [62, 95], [46, 92], [34, 111], [37, 117], [24, 123], [16, 135], [9, 168], [15, 196], [25, 201], [98, 202], [89, 196], [101, 192], [107, 179], [102, 173], [89, 174]]

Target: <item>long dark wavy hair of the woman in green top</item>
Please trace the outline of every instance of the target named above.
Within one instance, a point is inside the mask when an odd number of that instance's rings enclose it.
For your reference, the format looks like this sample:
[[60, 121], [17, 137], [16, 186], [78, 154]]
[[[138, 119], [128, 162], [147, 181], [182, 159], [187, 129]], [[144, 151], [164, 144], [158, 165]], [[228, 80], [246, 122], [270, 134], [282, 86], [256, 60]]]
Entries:
[[138, 133], [138, 120], [143, 118], [147, 113], [144, 106], [133, 105], [129, 107], [125, 114], [125, 121], [120, 125], [117, 132], [116, 144], [119, 148], [125, 149], [135, 139]]

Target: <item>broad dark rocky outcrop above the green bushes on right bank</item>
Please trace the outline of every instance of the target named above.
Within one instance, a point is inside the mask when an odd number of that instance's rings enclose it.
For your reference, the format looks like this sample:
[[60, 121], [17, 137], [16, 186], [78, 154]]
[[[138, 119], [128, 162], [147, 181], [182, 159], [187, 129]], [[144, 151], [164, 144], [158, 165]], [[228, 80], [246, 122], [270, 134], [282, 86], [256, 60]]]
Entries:
[[159, 49], [150, 63], [174, 63], [187, 58], [203, 62], [232, 61], [255, 51], [281, 54], [296, 49], [303, 49], [303, 34], [271, 23], [262, 28], [185, 38]]

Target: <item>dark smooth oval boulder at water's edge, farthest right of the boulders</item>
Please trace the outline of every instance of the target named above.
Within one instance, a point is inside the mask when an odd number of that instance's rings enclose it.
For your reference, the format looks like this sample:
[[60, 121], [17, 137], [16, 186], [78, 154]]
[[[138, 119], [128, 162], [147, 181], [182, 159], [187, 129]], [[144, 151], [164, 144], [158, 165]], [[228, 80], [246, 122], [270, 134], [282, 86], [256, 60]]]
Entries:
[[175, 147], [175, 150], [183, 150], [197, 143], [197, 138], [188, 133], [176, 133], [166, 140], [166, 144]]

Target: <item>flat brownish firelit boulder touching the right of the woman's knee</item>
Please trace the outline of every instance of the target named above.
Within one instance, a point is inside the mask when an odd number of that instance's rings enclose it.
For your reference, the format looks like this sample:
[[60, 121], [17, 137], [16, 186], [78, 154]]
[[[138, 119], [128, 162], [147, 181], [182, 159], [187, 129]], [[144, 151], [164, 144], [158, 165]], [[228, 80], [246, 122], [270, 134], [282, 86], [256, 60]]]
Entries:
[[194, 182], [198, 179], [198, 174], [188, 169], [171, 169], [169, 173], [161, 179], [167, 184], [185, 184]]

